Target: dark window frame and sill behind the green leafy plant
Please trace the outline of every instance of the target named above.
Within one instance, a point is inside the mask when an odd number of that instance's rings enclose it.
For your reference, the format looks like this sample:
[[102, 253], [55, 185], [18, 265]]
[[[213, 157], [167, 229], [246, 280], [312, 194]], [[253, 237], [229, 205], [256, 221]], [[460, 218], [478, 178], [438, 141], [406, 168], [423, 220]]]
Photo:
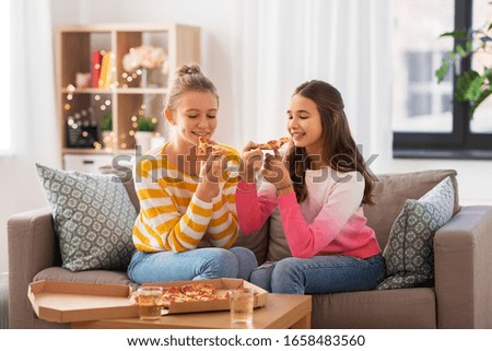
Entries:
[[[472, 26], [472, 0], [455, 0], [455, 30]], [[461, 40], [455, 40], [454, 45]], [[471, 68], [471, 58], [461, 62], [464, 70]], [[453, 86], [457, 77], [453, 70]], [[450, 132], [393, 133], [395, 159], [484, 159], [492, 160], [492, 133], [470, 132], [468, 103], [453, 98], [453, 130]]]

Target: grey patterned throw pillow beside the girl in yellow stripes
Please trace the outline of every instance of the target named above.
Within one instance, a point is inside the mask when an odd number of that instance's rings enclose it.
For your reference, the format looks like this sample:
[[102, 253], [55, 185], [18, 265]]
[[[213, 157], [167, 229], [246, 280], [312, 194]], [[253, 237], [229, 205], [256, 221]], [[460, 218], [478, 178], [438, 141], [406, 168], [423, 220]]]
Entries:
[[36, 167], [51, 207], [62, 267], [125, 270], [134, 250], [137, 212], [121, 180], [115, 175]]

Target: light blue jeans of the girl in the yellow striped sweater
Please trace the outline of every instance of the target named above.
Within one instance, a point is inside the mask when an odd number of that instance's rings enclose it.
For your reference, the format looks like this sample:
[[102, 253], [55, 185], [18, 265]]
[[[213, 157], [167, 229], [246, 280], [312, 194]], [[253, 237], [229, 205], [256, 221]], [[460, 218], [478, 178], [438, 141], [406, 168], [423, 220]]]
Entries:
[[128, 266], [128, 277], [139, 284], [213, 278], [249, 280], [256, 267], [255, 254], [245, 247], [206, 247], [184, 253], [136, 251]]

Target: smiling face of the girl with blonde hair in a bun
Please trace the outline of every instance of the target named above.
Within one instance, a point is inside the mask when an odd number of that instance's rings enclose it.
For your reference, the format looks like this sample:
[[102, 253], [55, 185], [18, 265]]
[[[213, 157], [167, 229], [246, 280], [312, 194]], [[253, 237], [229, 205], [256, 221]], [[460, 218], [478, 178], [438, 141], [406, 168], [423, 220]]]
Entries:
[[188, 91], [181, 94], [175, 110], [166, 109], [165, 115], [176, 127], [179, 144], [198, 144], [199, 137], [212, 138], [216, 129], [219, 104], [210, 92]]

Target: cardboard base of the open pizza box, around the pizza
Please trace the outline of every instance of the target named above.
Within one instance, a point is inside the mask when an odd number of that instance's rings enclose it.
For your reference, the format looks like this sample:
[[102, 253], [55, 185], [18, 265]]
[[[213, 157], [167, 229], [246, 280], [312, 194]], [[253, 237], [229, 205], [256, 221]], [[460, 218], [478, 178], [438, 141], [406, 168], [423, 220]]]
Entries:
[[[235, 290], [239, 288], [248, 288], [255, 291], [253, 306], [261, 307], [268, 301], [268, 292], [255, 284], [251, 284], [243, 279], [234, 278], [218, 278], [206, 280], [183, 280], [174, 282], [156, 282], [144, 283], [143, 286], [181, 286], [187, 284], [212, 284], [218, 291]], [[230, 309], [230, 301], [227, 300], [212, 300], [212, 301], [190, 301], [181, 303], [171, 303], [168, 308], [163, 308], [163, 315], [178, 314], [178, 313], [194, 313], [194, 312], [210, 312], [210, 311], [226, 311]]]

